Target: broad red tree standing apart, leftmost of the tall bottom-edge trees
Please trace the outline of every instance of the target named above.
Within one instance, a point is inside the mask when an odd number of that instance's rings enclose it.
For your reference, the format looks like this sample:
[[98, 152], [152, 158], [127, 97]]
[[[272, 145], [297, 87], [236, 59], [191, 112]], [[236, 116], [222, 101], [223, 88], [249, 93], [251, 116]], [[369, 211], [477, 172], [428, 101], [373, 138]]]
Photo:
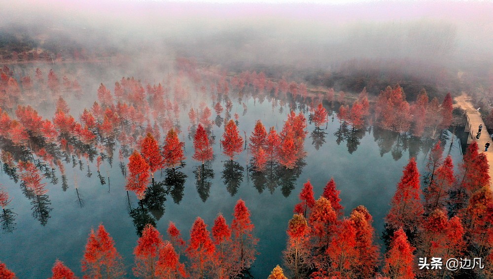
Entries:
[[122, 257], [102, 224], [96, 234], [91, 229], [82, 259], [82, 272], [84, 279], [119, 278], [126, 274]]

